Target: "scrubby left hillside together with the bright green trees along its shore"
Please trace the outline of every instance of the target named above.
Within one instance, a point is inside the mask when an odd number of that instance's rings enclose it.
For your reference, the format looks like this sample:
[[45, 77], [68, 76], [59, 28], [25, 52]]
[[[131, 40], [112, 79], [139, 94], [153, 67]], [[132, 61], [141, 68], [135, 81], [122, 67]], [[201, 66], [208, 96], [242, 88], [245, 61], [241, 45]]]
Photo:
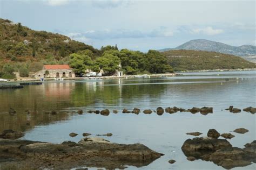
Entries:
[[0, 77], [9, 79], [15, 75], [4, 70], [6, 64], [21, 76], [37, 72], [43, 65], [56, 64], [69, 64], [78, 75], [101, 69], [105, 75], [116, 70], [125, 74], [173, 72], [165, 56], [157, 51], [119, 51], [117, 45], [96, 49], [60, 34], [33, 31], [5, 19], [0, 19], [0, 34]]

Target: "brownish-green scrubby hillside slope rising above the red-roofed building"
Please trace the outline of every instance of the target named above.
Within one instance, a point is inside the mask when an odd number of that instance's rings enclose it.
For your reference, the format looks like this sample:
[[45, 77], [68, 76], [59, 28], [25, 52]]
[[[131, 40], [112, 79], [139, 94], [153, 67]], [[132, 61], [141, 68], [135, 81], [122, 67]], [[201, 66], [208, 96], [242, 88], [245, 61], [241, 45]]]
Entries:
[[80, 50], [99, 50], [61, 34], [34, 31], [0, 18], [0, 64], [8, 61], [60, 61]]

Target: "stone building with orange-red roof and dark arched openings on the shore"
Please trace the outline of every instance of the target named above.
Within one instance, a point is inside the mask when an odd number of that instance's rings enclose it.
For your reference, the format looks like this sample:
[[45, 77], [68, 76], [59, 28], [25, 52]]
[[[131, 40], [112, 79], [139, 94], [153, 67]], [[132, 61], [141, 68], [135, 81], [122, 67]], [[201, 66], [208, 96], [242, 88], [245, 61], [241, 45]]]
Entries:
[[75, 77], [69, 65], [44, 65], [43, 69], [32, 75], [35, 78]]

